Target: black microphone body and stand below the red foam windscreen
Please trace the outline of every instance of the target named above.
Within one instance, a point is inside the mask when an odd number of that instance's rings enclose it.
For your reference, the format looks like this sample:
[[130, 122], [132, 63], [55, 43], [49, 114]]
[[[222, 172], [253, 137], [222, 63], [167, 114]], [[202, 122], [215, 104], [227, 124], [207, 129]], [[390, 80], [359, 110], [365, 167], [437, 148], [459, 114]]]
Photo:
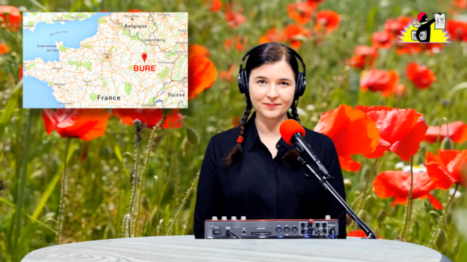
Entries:
[[[300, 142], [295, 142], [294, 144], [297, 147], [297, 150], [300, 152], [300, 154], [302, 154], [302, 152], [303, 152], [302, 144], [300, 144]], [[352, 210], [352, 208], [350, 208], [350, 206], [345, 202], [345, 200], [342, 199], [341, 195], [339, 195], [336, 192], [336, 189], [334, 189], [331, 186], [331, 184], [329, 184], [328, 180], [333, 180], [334, 178], [331, 177], [331, 175], [329, 175], [329, 173], [327, 172], [326, 168], [324, 168], [324, 166], [319, 167], [319, 172], [324, 173], [324, 174], [323, 175], [318, 175], [313, 170], [313, 168], [311, 166], [309, 166], [308, 161], [305, 161], [300, 156], [298, 156], [298, 161], [300, 161], [300, 163], [302, 163], [302, 166], [305, 166], [307, 171], [309, 171], [309, 173], [312, 173], [314, 175], [314, 178], [316, 178], [318, 180], [319, 184], [321, 186], [323, 186], [326, 191], [331, 193], [334, 196], [334, 198], [339, 202], [339, 204], [341, 204], [341, 206], [343, 206], [343, 208], [345, 209], [345, 212], [348, 214], [348, 216], [350, 216], [350, 218], [352, 218], [355, 221], [355, 223], [358, 225], [358, 227], [360, 227], [363, 230], [363, 232], [365, 232], [365, 234], [367, 235], [367, 239], [377, 239], [377, 235], [373, 232], [373, 230], [365, 222], [363, 222], [362, 218], [357, 216], [357, 214]], [[316, 161], [319, 161], [319, 160], [316, 159]], [[324, 170], [322, 170], [322, 169], [324, 169]], [[323, 172], [323, 171], [325, 171], [325, 172]], [[309, 176], [309, 173], [307, 174], [307, 172], [305, 171], [305, 176]]]

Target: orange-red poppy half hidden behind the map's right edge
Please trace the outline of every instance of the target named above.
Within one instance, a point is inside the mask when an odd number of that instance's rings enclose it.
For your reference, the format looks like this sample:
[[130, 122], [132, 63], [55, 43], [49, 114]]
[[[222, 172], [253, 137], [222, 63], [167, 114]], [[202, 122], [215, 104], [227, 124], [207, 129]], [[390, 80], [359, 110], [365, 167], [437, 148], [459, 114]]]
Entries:
[[211, 87], [218, 71], [206, 56], [189, 53], [188, 56], [188, 99], [194, 99], [204, 89]]

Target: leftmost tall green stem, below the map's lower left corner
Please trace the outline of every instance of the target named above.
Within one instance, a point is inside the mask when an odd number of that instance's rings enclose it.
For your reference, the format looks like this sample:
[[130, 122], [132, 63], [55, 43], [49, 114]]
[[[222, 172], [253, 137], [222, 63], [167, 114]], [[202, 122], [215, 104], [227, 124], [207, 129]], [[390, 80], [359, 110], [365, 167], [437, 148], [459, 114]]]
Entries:
[[[23, 204], [24, 204], [24, 195], [26, 190], [26, 170], [28, 166], [28, 146], [29, 146], [29, 138], [31, 134], [31, 123], [32, 123], [32, 109], [29, 109], [29, 117], [28, 117], [28, 124], [26, 127], [26, 135], [25, 135], [25, 143], [24, 143], [24, 151], [23, 151], [23, 163], [21, 164], [21, 171], [20, 171], [20, 185], [18, 189], [18, 201], [16, 202], [16, 221], [15, 221], [15, 231], [14, 231], [14, 238], [13, 238], [13, 250], [16, 250], [18, 247], [18, 239], [20, 236], [20, 230], [23, 228]], [[13, 252], [18, 254], [18, 252]], [[15, 258], [13, 258], [14, 260]]]

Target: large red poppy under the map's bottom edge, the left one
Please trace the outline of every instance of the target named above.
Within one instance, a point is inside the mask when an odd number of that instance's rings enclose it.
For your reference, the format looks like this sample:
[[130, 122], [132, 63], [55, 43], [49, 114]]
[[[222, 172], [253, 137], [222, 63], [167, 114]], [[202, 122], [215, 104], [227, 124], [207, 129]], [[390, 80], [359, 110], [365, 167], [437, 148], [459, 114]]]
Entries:
[[42, 120], [48, 135], [57, 129], [61, 137], [76, 137], [85, 141], [104, 135], [110, 116], [111, 113], [100, 108], [42, 110]]

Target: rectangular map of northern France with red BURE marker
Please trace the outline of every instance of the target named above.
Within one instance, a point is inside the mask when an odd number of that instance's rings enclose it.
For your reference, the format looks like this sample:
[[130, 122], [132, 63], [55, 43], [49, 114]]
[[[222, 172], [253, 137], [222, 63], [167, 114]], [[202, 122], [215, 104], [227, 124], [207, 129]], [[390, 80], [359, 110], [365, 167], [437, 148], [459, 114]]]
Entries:
[[188, 108], [188, 13], [23, 15], [23, 108]]

